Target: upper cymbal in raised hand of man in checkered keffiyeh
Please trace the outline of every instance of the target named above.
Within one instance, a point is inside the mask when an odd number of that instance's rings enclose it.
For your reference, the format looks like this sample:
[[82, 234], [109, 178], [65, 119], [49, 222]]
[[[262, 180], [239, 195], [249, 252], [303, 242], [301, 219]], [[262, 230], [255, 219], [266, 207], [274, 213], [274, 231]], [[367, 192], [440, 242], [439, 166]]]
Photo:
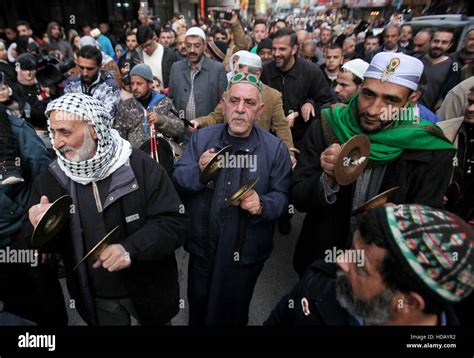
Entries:
[[31, 245], [41, 247], [54, 238], [69, 219], [69, 206], [71, 205], [69, 195], [56, 199], [41, 217], [31, 235]]

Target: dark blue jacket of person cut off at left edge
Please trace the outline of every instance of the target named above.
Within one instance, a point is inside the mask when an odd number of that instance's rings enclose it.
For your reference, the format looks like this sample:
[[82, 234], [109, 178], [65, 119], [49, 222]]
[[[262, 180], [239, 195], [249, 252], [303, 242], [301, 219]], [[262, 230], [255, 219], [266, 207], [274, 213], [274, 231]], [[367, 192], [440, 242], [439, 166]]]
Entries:
[[11, 238], [19, 233], [27, 220], [27, 203], [31, 183], [39, 172], [51, 161], [43, 141], [24, 120], [8, 116], [13, 138], [21, 159], [24, 183], [0, 185], [0, 247], [10, 244]]

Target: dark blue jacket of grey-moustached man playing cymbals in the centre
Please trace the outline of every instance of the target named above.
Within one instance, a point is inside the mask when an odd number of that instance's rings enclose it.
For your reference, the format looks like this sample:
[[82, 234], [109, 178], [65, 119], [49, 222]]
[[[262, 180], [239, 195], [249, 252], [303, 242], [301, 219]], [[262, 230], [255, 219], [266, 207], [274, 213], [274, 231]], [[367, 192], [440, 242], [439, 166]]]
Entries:
[[[256, 170], [223, 168], [207, 185], [199, 181], [199, 158], [210, 148], [220, 150], [230, 144], [227, 124], [200, 129], [191, 136], [181, 159], [176, 163], [173, 181], [182, 193], [190, 217], [185, 249], [200, 257], [219, 252], [242, 264], [266, 260], [273, 248], [273, 221], [288, 208], [291, 162], [288, 149], [277, 137], [255, 125], [242, 150], [256, 158]], [[247, 174], [245, 174], [247, 172]], [[254, 190], [263, 202], [261, 215], [250, 215], [238, 206], [222, 209], [225, 199], [247, 179], [260, 177]]]

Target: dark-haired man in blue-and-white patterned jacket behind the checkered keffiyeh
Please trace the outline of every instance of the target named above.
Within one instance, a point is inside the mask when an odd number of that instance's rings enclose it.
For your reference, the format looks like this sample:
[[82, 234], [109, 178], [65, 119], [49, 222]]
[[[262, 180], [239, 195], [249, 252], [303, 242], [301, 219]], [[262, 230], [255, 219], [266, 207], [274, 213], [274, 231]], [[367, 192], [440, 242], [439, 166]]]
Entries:
[[83, 46], [76, 64], [80, 76], [69, 78], [64, 93], [84, 93], [101, 101], [115, 118], [120, 102], [120, 86], [111, 72], [101, 71], [102, 53], [94, 46]]

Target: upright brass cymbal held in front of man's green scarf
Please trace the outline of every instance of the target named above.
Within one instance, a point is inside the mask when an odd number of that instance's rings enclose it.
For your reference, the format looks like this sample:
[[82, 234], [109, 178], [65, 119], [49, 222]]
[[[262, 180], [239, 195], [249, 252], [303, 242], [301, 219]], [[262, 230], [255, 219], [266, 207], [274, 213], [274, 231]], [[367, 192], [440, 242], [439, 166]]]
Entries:
[[334, 167], [339, 185], [349, 185], [357, 180], [369, 163], [370, 141], [367, 136], [358, 134], [343, 146]]

